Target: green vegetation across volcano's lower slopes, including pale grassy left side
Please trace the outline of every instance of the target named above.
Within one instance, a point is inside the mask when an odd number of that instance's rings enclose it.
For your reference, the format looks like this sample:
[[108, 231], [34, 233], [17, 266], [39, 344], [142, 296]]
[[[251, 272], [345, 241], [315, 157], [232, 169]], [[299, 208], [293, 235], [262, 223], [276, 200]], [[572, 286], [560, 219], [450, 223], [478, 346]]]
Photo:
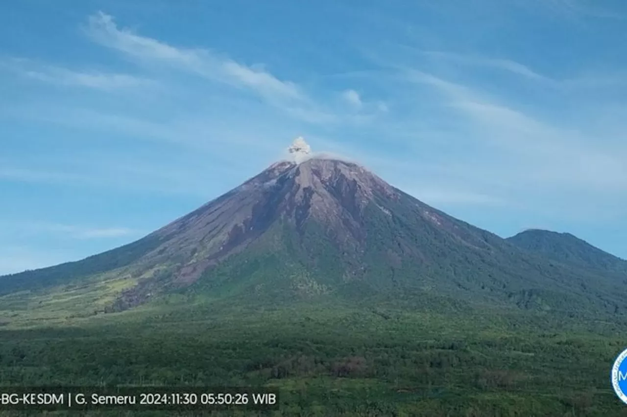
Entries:
[[187, 287], [171, 286], [169, 271], [176, 264], [145, 269], [142, 275], [113, 270], [57, 286], [37, 287], [36, 281], [37, 291], [0, 296], [0, 323], [66, 322], [148, 300], [170, 306], [219, 301], [258, 307], [307, 300], [342, 306], [393, 302], [408, 309], [439, 305], [443, 311], [469, 304], [624, 320], [623, 287], [616, 287], [603, 270], [551, 264], [461, 222], [455, 225], [457, 234], [443, 232], [419, 218], [419, 207], [408, 207], [400, 202], [394, 217], [376, 205], [368, 207], [363, 249], [338, 245], [332, 231], [318, 222], [305, 222], [300, 229], [285, 220], [275, 222], [245, 251], [209, 268]]

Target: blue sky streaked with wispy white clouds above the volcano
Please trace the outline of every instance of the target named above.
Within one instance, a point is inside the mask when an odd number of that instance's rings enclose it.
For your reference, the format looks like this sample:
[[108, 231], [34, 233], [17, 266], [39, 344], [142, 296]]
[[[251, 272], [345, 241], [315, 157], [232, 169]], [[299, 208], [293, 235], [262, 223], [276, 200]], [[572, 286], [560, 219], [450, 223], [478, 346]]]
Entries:
[[0, 3], [0, 273], [138, 239], [296, 136], [627, 258], [626, 36], [622, 0]]

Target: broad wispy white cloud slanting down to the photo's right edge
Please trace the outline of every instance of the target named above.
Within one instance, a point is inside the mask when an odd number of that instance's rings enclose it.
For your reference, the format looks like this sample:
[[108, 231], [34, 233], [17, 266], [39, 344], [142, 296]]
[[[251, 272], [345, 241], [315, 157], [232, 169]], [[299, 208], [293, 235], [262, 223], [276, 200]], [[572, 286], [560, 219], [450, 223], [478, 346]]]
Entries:
[[[541, 121], [490, 98], [481, 91], [409, 70], [408, 80], [439, 91], [446, 105], [470, 121], [473, 137], [508, 152], [517, 160], [519, 180], [607, 191], [627, 189], [627, 150], [594, 145], [575, 128]], [[618, 151], [618, 152], [617, 152]], [[503, 155], [505, 157], [505, 155]]]

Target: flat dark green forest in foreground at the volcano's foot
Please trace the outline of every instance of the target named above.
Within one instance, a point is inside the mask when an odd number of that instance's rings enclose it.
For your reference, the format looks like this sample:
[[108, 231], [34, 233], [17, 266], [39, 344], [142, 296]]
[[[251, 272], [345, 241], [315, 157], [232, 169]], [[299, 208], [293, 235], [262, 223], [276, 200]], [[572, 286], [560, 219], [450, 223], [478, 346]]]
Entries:
[[624, 416], [608, 381], [627, 344], [617, 326], [427, 307], [162, 306], [0, 331], [0, 384], [280, 389], [278, 411], [225, 416]]

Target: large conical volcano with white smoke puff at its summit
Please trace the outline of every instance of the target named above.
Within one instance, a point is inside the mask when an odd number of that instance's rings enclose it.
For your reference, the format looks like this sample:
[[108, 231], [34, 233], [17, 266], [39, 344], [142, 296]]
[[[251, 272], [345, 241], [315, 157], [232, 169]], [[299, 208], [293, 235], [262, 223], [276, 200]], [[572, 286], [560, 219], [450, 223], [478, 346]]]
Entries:
[[[290, 152], [292, 161], [271, 165], [137, 242], [0, 278], [0, 295], [82, 288], [102, 311], [172, 294], [249, 305], [324, 298], [586, 314], [627, 307], [616, 285], [626, 278], [621, 272], [581, 269], [521, 249], [361, 165], [314, 157], [300, 139]], [[89, 292], [98, 286], [110, 291]]]

